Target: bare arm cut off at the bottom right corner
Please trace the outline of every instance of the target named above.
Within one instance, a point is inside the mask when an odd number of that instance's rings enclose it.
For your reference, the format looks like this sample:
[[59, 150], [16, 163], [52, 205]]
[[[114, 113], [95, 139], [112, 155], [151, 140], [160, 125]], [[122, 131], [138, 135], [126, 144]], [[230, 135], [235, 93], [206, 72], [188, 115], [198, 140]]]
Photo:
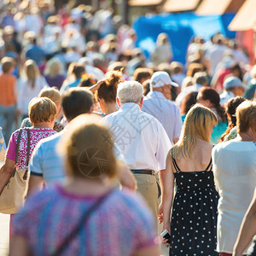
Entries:
[[241, 228], [234, 247], [234, 256], [241, 256], [247, 248], [253, 236], [256, 234], [256, 189], [254, 191], [253, 201], [242, 220]]

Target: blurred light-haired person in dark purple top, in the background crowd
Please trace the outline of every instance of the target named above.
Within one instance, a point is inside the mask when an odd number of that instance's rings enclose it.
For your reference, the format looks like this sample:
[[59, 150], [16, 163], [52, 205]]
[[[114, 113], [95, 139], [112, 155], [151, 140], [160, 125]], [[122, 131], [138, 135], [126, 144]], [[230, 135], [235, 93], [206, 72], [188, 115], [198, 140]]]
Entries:
[[50, 87], [55, 86], [59, 90], [61, 89], [65, 76], [63, 75], [63, 65], [59, 59], [53, 58], [46, 63], [44, 78]]

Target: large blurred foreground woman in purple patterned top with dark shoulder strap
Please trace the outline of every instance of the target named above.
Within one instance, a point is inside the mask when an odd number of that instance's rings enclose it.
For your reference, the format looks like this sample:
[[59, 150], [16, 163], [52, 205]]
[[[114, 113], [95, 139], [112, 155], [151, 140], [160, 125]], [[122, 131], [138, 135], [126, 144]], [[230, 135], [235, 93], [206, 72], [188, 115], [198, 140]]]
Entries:
[[28, 198], [14, 221], [11, 256], [160, 255], [143, 199], [114, 189], [113, 137], [100, 120], [83, 114], [71, 121], [59, 144], [67, 183]]

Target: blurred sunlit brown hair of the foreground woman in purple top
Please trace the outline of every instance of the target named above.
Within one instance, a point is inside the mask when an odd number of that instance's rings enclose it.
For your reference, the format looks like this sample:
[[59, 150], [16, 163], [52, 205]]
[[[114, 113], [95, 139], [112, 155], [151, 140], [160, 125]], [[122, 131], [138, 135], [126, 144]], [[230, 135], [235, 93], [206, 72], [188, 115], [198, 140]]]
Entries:
[[113, 137], [101, 118], [94, 114], [84, 113], [73, 119], [58, 149], [66, 158], [69, 177], [106, 175], [112, 179], [118, 175]]

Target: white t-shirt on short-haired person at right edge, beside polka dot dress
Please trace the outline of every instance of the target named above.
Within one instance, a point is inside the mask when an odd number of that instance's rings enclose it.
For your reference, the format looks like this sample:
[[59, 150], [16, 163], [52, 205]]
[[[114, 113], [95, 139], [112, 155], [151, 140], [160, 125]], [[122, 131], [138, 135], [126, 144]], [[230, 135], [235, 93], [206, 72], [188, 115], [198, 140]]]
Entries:
[[217, 251], [232, 253], [256, 186], [256, 144], [237, 139], [219, 143], [212, 149], [212, 163], [220, 196]]

